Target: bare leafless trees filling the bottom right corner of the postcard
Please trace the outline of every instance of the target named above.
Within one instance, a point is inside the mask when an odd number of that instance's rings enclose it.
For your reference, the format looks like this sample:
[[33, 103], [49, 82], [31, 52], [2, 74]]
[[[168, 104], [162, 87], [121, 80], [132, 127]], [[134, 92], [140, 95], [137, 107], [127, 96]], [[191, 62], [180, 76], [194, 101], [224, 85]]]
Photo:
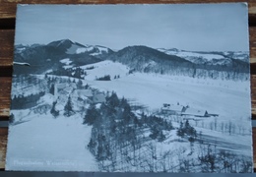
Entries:
[[216, 146], [201, 144], [197, 157], [189, 158], [183, 151], [178, 155], [179, 163], [176, 172], [182, 173], [251, 173], [252, 160], [242, 154], [217, 149]]

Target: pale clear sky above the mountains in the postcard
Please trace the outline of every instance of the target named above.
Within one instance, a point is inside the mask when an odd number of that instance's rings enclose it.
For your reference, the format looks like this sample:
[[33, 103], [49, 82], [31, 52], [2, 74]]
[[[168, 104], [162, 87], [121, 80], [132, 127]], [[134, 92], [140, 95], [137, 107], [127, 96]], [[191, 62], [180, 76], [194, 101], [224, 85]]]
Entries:
[[18, 5], [15, 44], [67, 38], [114, 50], [249, 51], [247, 5]]

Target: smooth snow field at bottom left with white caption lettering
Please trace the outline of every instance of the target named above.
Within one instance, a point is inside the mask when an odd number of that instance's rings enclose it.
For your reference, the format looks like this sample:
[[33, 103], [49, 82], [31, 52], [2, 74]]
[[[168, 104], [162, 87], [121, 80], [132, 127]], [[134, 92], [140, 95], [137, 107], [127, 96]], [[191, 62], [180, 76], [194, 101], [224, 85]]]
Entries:
[[83, 125], [80, 116], [32, 114], [26, 119], [9, 127], [7, 170], [96, 171], [87, 148], [92, 126]]

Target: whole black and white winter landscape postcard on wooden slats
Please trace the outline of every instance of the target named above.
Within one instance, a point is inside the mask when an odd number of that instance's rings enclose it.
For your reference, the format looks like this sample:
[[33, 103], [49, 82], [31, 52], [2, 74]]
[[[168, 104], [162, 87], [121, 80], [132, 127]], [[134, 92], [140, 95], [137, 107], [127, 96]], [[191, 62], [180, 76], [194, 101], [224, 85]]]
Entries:
[[246, 3], [18, 5], [6, 170], [251, 173]]

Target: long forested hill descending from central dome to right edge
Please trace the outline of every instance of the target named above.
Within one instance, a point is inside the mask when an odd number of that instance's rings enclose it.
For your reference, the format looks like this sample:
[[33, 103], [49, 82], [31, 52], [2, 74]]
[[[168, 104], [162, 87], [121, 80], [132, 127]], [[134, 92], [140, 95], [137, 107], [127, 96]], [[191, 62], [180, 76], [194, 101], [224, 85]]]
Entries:
[[[194, 53], [187, 52], [194, 55]], [[195, 57], [201, 59], [201, 57]], [[249, 63], [230, 57], [194, 62], [185, 56], [167, 54], [147, 46], [129, 46], [112, 53], [107, 59], [128, 65], [133, 71], [212, 78], [248, 80]], [[198, 61], [198, 60], [197, 60]]]

